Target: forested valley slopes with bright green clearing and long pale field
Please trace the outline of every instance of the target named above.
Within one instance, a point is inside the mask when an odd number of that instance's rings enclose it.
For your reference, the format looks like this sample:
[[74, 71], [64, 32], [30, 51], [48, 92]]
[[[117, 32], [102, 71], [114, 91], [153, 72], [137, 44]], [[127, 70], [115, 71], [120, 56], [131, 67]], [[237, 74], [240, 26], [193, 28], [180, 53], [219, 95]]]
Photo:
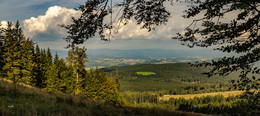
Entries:
[[[208, 71], [208, 67], [187, 63], [113, 66], [100, 70], [119, 77], [120, 91], [132, 106], [216, 115], [258, 115], [255, 109], [248, 112], [247, 108], [253, 105], [247, 101], [248, 96], [234, 91], [230, 82], [239, 78], [237, 73], [207, 77], [202, 73]], [[185, 97], [190, 94], [199, 97]], [[167, 96], [169, 98], [164, 99]]]

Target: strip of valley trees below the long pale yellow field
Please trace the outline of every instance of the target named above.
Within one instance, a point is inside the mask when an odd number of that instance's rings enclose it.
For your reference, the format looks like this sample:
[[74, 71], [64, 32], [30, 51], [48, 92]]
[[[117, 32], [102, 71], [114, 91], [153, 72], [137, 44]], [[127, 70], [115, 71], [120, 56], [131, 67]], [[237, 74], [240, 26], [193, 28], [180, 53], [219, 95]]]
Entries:
[[[127, 103], [137, 107], [168, 109], [216, 115], [259, 115], [257, 103], [242, 96], [223, 95], [194, 97], [192, 99], [170, 98], [160, 100], [158, 93], [122, 92]], [[253, 108], [254, 107], [254, 108]]]

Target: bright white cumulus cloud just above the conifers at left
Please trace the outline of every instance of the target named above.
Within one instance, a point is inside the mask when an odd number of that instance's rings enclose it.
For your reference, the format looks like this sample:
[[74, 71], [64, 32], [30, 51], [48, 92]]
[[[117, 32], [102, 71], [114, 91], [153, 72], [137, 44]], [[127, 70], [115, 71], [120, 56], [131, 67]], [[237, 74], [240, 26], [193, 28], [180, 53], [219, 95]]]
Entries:
[[71, 17], [77, 17], [79, 15], [80, 12], [74, 9], [52, 6], [48, 8], [45, 15], [40, 15], [36, 18], [31, 17], [30, 19], [24, 20], [24, 33], [27, 37], [36, 38], [38, 41], [58, 39], [55, 37], [65, 35], [64, 29], [62, 29], [59, 25], [70, 24]]

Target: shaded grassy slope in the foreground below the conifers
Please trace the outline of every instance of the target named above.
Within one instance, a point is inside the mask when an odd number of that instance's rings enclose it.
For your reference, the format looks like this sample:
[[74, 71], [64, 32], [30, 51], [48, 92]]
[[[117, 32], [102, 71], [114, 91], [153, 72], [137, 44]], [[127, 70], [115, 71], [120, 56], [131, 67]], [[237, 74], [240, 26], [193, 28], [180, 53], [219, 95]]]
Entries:
[[0, 115], [26, 116], [123, 116], [123, 115], [197, 115], [203, 114], [148, 109], [130, 106], [112, 106], [101, 102], [88, 101], [80, 96], [49, 92], [7, 80], [0, 80]]

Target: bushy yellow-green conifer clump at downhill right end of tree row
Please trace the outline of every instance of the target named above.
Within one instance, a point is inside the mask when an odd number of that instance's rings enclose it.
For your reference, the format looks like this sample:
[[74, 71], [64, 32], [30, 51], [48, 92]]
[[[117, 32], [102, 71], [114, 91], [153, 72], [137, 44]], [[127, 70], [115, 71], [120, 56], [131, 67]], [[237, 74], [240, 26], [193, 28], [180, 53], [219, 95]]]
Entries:
[[88, 99], [100, 100], [111, 104], [124, 104], [124, 99], [119, 93], [115, 80], [106, 76], [106, 73], [95, 72], [92, 69], [87, 73], [83, 81], [83, 95]]

